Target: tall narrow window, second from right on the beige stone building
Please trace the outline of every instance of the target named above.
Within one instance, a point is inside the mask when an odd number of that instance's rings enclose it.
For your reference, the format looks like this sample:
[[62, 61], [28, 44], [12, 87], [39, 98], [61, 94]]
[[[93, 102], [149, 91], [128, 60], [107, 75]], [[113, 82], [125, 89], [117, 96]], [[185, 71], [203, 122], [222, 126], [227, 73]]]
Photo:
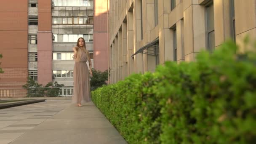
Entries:
[[210, 3], [210, 4], [206, 7], [206, 16], [207, 16], [208, 51], [213, 52], [213, 50], [215, 49], [213, 3]]

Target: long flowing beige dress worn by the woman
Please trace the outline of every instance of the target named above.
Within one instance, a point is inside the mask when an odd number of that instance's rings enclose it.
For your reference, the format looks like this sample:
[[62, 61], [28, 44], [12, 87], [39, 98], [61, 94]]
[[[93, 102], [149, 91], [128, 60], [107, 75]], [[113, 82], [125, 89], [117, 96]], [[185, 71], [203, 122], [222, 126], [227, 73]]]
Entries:
[[73, 71], [74, 90], [72, 96], [72, 103], [85, 103], [91, 101], [91, 87], [89, 80], [89, 70], [86, 65], [87, 54], [80, 50], [77, 51], [77, 56], [81, 59], [75, 59], [75, 67]]

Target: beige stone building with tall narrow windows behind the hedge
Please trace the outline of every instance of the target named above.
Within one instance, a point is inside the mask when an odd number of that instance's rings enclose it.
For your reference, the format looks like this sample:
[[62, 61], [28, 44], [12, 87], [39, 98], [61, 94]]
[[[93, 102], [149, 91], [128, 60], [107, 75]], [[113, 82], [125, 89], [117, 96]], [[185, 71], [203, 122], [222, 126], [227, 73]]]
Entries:
[[255, 0], [111, 0], [110, 83], [154, 72], [165, 61], [195, 61], [225, 40], [256, 38]]

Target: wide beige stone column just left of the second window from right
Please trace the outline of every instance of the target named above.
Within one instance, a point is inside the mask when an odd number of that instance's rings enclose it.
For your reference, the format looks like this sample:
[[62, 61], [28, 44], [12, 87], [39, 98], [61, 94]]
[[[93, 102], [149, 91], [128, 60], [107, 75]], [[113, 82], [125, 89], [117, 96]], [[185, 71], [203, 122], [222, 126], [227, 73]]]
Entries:
[[206, 48], [205, 7], [192, 0], [183, 4], [185, 61], [195, 61], [196, 54]]

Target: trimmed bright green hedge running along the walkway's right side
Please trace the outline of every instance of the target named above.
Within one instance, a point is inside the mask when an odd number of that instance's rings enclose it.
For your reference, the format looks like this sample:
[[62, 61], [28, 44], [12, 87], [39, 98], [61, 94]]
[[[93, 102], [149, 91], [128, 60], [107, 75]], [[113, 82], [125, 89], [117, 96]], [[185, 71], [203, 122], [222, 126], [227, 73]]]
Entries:
[[166, 62], [92, 92], [131, 144], [249, 144], [256, 141], [256, 53], [232, 42], [196, 62]]

